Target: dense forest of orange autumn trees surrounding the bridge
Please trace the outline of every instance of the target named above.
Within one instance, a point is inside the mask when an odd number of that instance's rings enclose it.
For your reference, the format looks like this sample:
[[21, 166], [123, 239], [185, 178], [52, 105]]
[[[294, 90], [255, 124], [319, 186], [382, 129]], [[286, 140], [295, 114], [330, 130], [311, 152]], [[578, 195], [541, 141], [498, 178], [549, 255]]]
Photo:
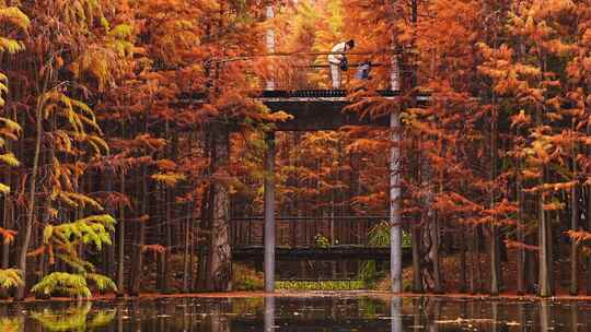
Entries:
[[[395, 112], [401, 140], [276, 131], [269, 82], [331, 90], [349, 39], [343, 111]], [[389, 246], [393, 144], [403, 292], [591, 295], [588, 107], [589, 0], [0, 0], [0, 296], [262, 289], [232, 246], [262, 237], [269, 177], [278, 217], [333, 221], [278, 246]]]

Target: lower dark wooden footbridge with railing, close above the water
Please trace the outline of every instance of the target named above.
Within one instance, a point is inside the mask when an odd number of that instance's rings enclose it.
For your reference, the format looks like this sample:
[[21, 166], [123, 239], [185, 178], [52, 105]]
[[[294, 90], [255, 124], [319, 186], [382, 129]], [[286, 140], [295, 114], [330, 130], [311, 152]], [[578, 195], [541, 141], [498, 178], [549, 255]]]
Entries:
[[[390, 247], [371, 246], [369, 234], [387, 216], [276, 217], [276, 260], [390, 260]], [[230, 241], [234, 261], [260, 262], [265, 218], [232, 218]], [[403, 250], [409, 261], [409, 248]]]

